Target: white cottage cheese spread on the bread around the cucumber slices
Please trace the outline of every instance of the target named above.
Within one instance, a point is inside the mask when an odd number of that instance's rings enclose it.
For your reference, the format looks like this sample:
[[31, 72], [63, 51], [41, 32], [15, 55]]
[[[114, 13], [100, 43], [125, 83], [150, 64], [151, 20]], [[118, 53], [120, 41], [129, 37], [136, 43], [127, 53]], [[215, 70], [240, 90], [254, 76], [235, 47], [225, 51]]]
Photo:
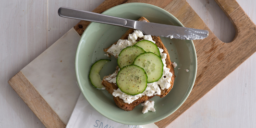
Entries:
[[[151, 35], [142, 36], [143, 34], [142, 35], [141, 34], [142, 34], [141, 31], [135, 30], [134, 33], [131, 34], [130, 40], [134, 40], [133, 37], [137, 36], [137, 37], [143, 37], [146, 40], [153, 41]], [[118, 42], [121, 42], [121, 41], [118, 41]], [[128, 42], [127, 44], [135, 44], [136, 43], [136, 42], [134, 42], [134, 43], [130, 42], [129, 39], [128, 40], [122, 40], [122, 42]], [[127, 46], [126, 43], [122, 43], [122, 44], [119, 43], [119, 45], [115, 45], [114, 48], [112, 48], [113, 50], [109, 49], [108, 52], [115, 53], [118, 56], [119, 53], [122, 51], [122, 50], [119, 51], [119, 49], [123, 49], [123, 48], [125, 48], [125, 46]], [[116, 49], [118, 49], [118, 50], [116, 50]], [[135, 100], [137, 100], [138, 98], [142, 97], [143, 95], [147, 95], [147, 96], [152, 96], [152, 95], [157, 95], [157, 94], [160, 95], [161, 94], [160, 88], [162, 90], [170, 88], [172, 73], [170, 72], [170, 69], [166, 67], [165, 59], [167, 57], [167, 54], [162, 53], [163, 49], [161, 49], [161, 48], [159, 48], [159, 51], [160, 51], [161, 60], [164, 64], [164, 66], [163, 66], [163, 75], [158, 81], [155, 81], [155, 82], [152, 82], [152, 83], [147, 83], [146, 90], [143, 93], [140, 93], [140, 94], [137, 94], [137, 95], [129, 95], [129, 94], [123, 93], [120, 89], [114, 90], [112, 95], [115, 96], [115, 97], [119, 96], [121, 99], [123, 99], [124, 103], [131, 104]], [[116, 83], [117, 73], [113, 73], [112, 75], [109, 77], [109, 79], [106, 79], [106, 80], [109, 81], [109, 82], [112, 82], [112, 83]], [[113, 80], [113, 79], [115, 79], [115, 80]], [[160, 88], [159, 88], [158, 85], [160, 86]]]

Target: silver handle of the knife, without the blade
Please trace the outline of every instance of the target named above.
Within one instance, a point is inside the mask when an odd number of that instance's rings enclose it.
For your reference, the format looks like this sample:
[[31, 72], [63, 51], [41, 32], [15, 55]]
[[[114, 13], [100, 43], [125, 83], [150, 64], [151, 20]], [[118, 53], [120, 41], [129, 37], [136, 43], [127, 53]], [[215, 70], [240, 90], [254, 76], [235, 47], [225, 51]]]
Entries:
[[[103, 15], [94, 12], [87, 12], [67, 7], [61, 7], [58, 10], [58, 14], [61, 17], [76, 19], [76, 20], [83, 20], [89, 22], [97, 22], [97, 23], [105, 23], [110, 25], [116, 26], [125, 26], [127, 21], [123, 18]], [[129, 23], [129, 22], [128, 22]], [[129, 23], [130, 24], [130, 23]]]

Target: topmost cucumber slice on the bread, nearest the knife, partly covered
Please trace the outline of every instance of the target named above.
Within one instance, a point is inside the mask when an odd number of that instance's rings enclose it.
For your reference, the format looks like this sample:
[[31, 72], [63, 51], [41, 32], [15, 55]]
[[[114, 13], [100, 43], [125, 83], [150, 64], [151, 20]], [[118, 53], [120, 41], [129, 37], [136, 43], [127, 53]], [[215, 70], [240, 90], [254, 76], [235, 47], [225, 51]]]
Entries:
[[146, 52], [153, 52], [153, 53], [157, 54], [159, 57], [161, 57], [158, 46], [151, 41], [141, 40], [141, 41], [137, 42], [134, 46], [141, 47]]

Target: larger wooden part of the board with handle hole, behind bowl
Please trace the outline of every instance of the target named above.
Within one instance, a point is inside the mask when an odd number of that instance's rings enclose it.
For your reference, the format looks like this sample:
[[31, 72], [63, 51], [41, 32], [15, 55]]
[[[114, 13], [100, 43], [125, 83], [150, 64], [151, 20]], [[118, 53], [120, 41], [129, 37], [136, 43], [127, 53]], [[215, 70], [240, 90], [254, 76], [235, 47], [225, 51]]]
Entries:
[[[93, 12], [103, 12], [113, 6], [106, 0]], [[232, 42], [224, 43], [214, 35], [203, 20], [195, 13], [186, 0], [123, 0], [119, 3], [144, 2], [165, 9], [174, 15], [185, 27], [204, 29], [209, 31], [209, 36], [203, 40], [194, 40], [197, 54], [197, 76], [195, 85], [185, 103], [171, 116], [156, 122], [159, 128], [165, 128], [174, 119], [183, 114], [214, 86], [228, 76], [247, 58], [256, 52], [256, 25], [250, 20], [244, 10], [235, 0], [216, 0], [219, 7], [231, 19], [236, 34]], [[171, 3], [171, 4], [169, 4]], [[108, 4], [108, 5], [105, 5]], [[104, 6], [105, 8], [102, 8]], [[107, 7], [107, 8], [106, 8]], [[80, 22], [74, 28], [82, 35], [89, 22]], [[77, 29], [83, 25], [83, 30]], [[250, 47], [250, 49], [248, 49]]]

